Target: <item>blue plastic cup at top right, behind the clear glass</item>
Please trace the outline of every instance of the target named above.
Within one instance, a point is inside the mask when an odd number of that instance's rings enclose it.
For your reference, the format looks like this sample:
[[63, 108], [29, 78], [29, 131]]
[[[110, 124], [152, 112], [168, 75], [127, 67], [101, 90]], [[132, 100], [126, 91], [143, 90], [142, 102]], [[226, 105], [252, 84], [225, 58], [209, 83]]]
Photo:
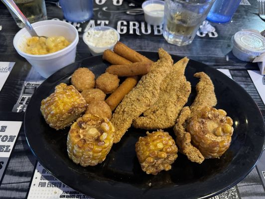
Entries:
[[215, 23], [229, 22], [237, 10], [241, 0], [215, 0], [207, 20]]

